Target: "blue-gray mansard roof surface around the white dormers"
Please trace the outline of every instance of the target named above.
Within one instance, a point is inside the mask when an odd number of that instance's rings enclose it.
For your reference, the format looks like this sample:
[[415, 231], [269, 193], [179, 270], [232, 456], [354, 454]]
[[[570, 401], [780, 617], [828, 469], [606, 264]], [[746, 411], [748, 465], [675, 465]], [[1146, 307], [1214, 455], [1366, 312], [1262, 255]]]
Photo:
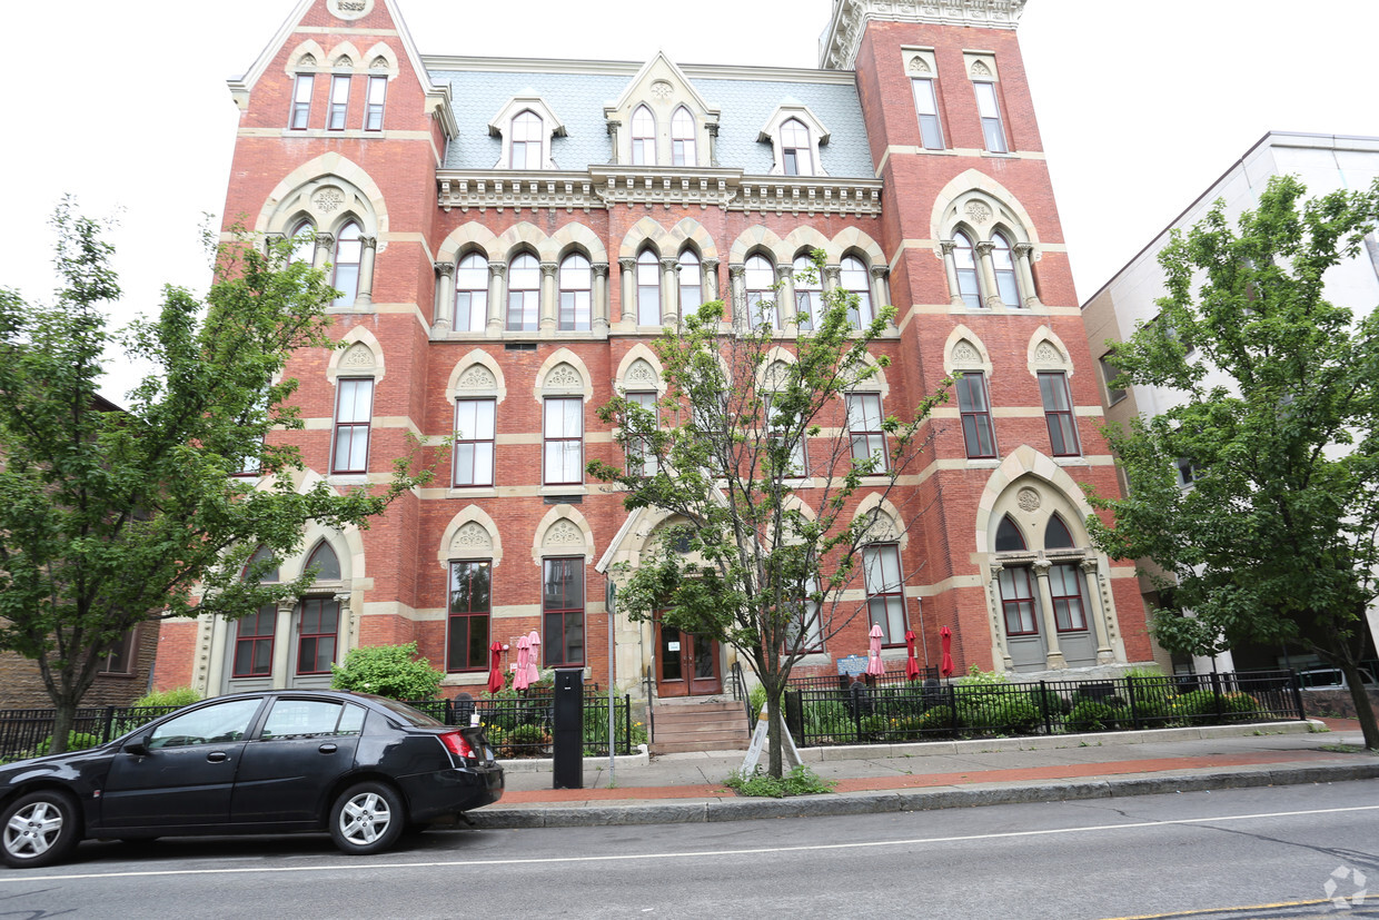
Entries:
[[[552, 141], [552, 159], [560, 170], [583, 170], [612, 161], [612, 138], [604, 106], [627, 88], [627, 74], [552, 73], [512, 70], [430, 70], [437, 84], [450, 84], [459, 137], [445, 152], [448, 170], [490, 170], [502, 154], [502, 139], [490, 137], [488, 120], [514, 95], [535, 91], [565, 126], [565, 137]], [[816, 83], [753, 79], [696, 79], [695, 90], [721, 110], [718, 166], [749, 175], [771, 171], [771, 145], [757, 141], [761, 127], [782, 102], [797, 101], [829, 130], [821, 148], [823, 170], [830, 177], [874, 178], [872, 152], [856, 87], [851, 83]]]

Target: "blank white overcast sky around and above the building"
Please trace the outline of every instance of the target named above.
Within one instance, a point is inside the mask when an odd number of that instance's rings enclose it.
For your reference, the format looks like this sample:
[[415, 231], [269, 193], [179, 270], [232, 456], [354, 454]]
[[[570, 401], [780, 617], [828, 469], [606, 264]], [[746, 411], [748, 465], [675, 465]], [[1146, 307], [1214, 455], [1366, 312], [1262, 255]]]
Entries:
[[[422, 54], [814, 68], [832, 0], [399, 0]], [[65, 193], [112, 234], [124, 301], [203, 290], [199, 229], [225, 204], [247, 70], [294, 0], [57, 0], [10, 12], [0, 286], [50, 297]], [[1019, 36], [1080, 298], [1094, 294], [1266, 131], [1379, 135], [1376, 0], [1029, 0]], [[782, 12], [789, 10], [789, 12]], [[18, 57], [18, 59], [15, 59]], [[26, 76], [21, 76], [26, 74]], [[172, 188], [172, 194], [163, 189]], [[135, 382], [112, 368], [108, 396]]]

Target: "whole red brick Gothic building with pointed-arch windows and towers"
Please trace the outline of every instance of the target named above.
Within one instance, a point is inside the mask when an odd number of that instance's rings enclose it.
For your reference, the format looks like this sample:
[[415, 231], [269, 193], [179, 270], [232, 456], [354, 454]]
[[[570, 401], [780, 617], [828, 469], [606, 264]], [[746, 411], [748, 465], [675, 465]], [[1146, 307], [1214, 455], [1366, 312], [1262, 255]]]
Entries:
[[[303, 0], [250, 72], [228, 215], [316, 233], [343, 297], [332, 352], [299, 354], [309, 477], [386, 481], [408, 434], [450, 466], [368, 531], [308, 534], [295, 607], [163, 626], [157, 683], [208, 692], [328, 680], [357, 644], [416, 640], [448, 694], [487, 644], [535, 630], [545, 665], [641, 692], [714, 692], [732, 651], [604, 606], [608, 566], [659, 523], [583, 474], [614, 461], [594, 410], [654, 393], [650, 345], [702, 301], [776, 281], [789, 350], [822, 284], [895, 303], [892, 357], [840, 425], [866, 433], [949, 374], [935, 447], [903, 488], [924, 517], [847, 596], [889, 593], [960, 669], [1151, 658], [1134, 571], [1088, 543], [1084, 486], [1117, 488], [1100, 397], [1020, 63], [1023, 0], [837, 0], [816, 70], [426, 57], [397, 0]], [[858, 513], [876, 509], [863, 490]], [[895, 513], [894, 503], [880, 508]], [[896, 521], [896, 524], [903, 524]], [[902, 532], [903, 531], [903, 532]], [[866, 617], [805, 662], [865, 652]], [[516, 650], [514, 650], [516, 651]], [[891, 666], [899, 668], [899, 661]]]

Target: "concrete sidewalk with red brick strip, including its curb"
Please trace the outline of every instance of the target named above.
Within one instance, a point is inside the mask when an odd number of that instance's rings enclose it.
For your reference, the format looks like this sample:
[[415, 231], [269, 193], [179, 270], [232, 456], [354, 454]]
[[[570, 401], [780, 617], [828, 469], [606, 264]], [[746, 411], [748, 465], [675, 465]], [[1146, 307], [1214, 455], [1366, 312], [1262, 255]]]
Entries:
[[[723, 785], [745, 750], [585, 760], [583, 789], [552, 789], [550, 761], [505, 761], [502, 801], [477, 828], [565, 828], [921, 811], [1160, 792], [1379, 779], [1354, 720], [1208, 726], [903, 745], [807, 748], [834, 792], [746, 799]], [[1329, 727], [1329, 731], [1327, 728]]]

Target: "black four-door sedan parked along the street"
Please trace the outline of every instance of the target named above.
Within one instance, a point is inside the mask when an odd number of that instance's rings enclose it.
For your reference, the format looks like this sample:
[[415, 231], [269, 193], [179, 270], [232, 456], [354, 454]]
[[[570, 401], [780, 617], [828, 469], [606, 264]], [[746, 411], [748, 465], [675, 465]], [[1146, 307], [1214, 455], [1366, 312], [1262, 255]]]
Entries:
[[480, 728], [367, 694], [236, 694], [99, 748], [0, 767], [0, 857], [46, 866], [84, 837], [310, 830], [365, 855], [502, 794]]

